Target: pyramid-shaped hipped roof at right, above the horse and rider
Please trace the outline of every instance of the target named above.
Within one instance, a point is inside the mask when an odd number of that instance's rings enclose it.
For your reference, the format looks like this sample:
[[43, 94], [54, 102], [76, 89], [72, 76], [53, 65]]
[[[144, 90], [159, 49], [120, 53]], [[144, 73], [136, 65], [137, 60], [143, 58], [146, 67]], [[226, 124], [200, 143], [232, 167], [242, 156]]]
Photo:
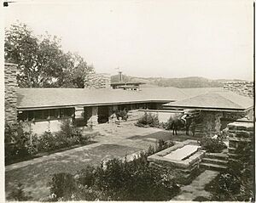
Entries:
[[164, 105], [166, 107], [188, 109], [247, 110], [253, 107], [253, 99], [230, 91], [218, 91], [203, 93]]

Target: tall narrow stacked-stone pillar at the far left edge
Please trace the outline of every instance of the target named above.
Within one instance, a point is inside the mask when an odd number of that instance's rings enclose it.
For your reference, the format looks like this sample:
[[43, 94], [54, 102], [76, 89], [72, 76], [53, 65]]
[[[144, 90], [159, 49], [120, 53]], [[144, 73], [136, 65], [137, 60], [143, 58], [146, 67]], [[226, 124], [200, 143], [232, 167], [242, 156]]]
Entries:
[[5, 121], [13, 125], [17, 121], [17, 65], [4, 64], [4, 112]]

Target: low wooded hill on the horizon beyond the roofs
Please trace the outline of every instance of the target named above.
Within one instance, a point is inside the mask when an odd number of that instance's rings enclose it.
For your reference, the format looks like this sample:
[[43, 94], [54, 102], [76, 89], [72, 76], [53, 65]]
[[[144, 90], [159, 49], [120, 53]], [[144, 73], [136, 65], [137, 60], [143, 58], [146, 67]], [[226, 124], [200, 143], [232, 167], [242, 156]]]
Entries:
[[[179, 87], [179, 88], [195, 88], [195, 87], [223, 87], [224, 82], [241, 82], [242, 80], [210, 80], [205, 77], [189, 76], [181, 78], [164, 78], [164, 77], [137, 77], [123, 75], [125, 82], [144, 82], [145, 87]], [[118, 76], [111, 76], [111, 82], [118, 82]]]

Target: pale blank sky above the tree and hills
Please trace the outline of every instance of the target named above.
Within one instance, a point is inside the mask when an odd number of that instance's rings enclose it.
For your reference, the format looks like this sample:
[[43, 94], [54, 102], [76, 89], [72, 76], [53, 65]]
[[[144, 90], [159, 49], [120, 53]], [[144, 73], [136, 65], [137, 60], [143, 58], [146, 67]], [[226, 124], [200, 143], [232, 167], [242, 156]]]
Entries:
[[97, 72], [253, 80], [253, 1], [24, 0], [3, 12], [5, 27], [61, 37]]

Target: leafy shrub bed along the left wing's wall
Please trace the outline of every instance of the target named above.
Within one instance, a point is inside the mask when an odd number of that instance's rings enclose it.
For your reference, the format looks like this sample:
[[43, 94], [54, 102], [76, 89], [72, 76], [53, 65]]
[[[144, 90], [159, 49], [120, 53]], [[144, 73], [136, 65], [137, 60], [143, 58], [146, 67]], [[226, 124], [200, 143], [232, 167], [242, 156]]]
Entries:
[[90, 135], [82, 135], [81, 131], [69, 121], [62, 121], [59, 132], [44, 132], [41, 136], [24, 132], [20, 124], [15, 127], [6, 125], [4, 136], [7, 164], [40, 152], [63, 149], [75, 144], [87, 144], [90, 141]]

